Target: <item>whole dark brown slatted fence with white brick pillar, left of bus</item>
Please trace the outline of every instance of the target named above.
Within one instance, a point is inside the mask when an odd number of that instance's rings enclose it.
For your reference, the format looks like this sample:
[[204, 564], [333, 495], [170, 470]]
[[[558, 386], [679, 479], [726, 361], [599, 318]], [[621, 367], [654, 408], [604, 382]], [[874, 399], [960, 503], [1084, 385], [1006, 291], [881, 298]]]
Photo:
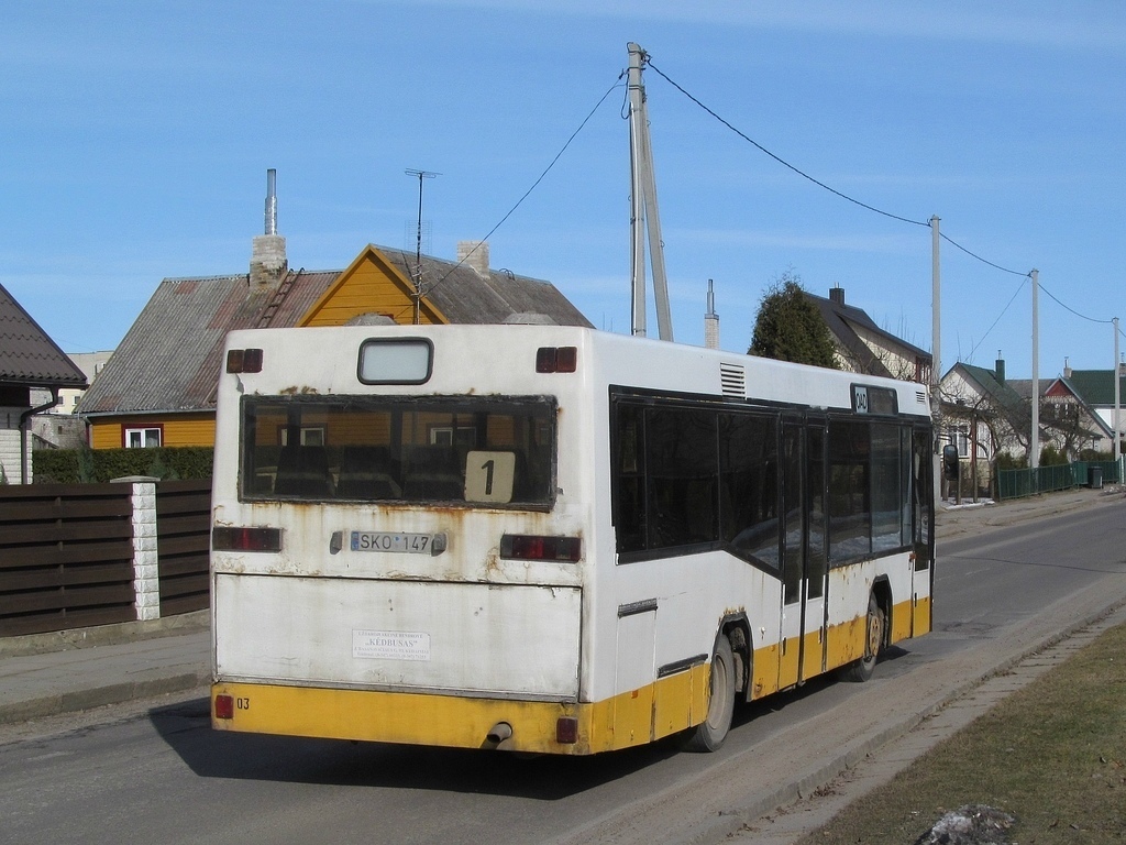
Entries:
[[0, 486], [0, 637], [141, 619], [148, 584], [144, 617], [206, 607], [209, 512], [207, 481]]

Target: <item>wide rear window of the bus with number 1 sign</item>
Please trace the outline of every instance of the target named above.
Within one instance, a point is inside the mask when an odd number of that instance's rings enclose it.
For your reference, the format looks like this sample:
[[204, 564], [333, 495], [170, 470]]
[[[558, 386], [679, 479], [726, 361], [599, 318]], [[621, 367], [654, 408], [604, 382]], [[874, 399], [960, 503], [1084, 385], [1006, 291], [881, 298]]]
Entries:
[[241, 430], [247, 500], [554, 500], [549, 398], [244, 397]]

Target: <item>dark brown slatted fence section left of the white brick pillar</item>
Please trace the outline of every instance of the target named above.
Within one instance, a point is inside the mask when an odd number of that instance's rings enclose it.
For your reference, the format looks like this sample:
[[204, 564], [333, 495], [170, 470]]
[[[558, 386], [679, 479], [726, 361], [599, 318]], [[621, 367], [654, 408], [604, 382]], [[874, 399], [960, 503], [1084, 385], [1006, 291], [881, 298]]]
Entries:
[[131, 493], [0, 487], [0, 637], [136, 619]]

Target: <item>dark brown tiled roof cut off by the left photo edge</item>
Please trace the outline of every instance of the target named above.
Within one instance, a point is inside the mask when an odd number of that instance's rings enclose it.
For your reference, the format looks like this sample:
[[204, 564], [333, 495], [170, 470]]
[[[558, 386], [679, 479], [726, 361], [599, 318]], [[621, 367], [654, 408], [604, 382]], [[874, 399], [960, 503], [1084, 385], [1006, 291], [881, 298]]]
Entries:
[[0, 285], [0, 384], [84, 388], [86, 376]]

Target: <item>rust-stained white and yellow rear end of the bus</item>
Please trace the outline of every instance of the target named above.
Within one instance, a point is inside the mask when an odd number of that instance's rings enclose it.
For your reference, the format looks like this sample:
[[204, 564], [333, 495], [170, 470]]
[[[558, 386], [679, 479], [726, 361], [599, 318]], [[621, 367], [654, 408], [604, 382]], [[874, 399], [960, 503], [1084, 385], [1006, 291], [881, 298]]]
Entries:
[[229, 336], [216, 728], [590, 750], [580, 653], [593, 473], [575, 372], [588, 337], [543, 326]]

